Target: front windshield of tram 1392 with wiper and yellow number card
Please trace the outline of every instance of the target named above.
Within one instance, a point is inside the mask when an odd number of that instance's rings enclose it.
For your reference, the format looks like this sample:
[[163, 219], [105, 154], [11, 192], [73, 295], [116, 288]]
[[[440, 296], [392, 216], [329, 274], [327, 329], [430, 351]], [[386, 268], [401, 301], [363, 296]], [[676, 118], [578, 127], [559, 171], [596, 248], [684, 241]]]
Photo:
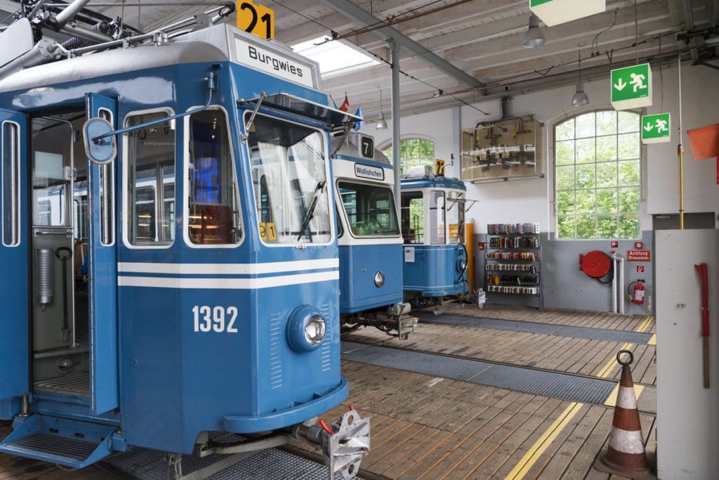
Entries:
[[321, 132], [257, 115], [247, 145], [262, 240], [329, 242], [330, 188]]

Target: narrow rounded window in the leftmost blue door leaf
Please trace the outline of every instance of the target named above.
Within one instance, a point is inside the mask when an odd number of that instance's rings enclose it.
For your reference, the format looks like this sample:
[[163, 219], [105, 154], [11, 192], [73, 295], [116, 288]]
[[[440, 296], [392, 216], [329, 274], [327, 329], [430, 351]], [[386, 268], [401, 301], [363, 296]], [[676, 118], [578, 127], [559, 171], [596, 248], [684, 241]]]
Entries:
[[12, 247], [20, 242], [20, 139], [17, 124], [2, 125], [2, 241]]

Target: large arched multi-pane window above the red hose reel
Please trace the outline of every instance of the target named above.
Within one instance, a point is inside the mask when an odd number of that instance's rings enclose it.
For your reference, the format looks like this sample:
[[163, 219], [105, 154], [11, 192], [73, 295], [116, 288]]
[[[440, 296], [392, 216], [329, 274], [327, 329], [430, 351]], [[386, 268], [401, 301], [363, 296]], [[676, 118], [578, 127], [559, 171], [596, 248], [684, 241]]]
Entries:
[[560, 240], [638, 238], [640, 116], [590, 112], [554, 127], [555, 200]]

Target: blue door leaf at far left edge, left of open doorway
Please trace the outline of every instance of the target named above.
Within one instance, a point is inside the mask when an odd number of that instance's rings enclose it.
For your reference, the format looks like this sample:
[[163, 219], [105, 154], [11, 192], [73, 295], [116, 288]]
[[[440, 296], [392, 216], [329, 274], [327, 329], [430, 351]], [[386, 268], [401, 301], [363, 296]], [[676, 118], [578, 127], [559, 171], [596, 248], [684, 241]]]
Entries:
[[[0, 109], [2, 242], [0, 243], [0, 400], [29, 391], [27, 118]], [[14, 406], [19, 413], [19, 403]]]

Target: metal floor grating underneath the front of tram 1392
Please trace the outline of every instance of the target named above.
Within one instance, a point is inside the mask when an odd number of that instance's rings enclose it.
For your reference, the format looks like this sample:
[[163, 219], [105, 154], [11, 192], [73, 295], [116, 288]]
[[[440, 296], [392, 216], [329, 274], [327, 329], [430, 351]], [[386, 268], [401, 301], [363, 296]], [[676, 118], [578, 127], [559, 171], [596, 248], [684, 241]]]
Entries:
[[[219, 437], [222, 436], [222, 440]], [[210, 437], [221, 443], [242, 440], [239, 435], [210, 433]], [[224, 455], [211, 455], [205, 458], [183, 455], [183, 475], [193, 474], [217, 461], [223, 461]], [[135, 448], [129, 453], [119, 453], [107, 458], [104, 463], [111, 466], [123, 477], [137, 480], [168, 480], [174, 478], [174, 469], [168, 464], [168, 456], [157, 450]], [[212, 480], [225, 479], [302, 479], [326, 480], [329, 470], [326, 466], [306, 458], [295, 456], [278, 448], [262, 450], [217, 474], [208, 477]]]

